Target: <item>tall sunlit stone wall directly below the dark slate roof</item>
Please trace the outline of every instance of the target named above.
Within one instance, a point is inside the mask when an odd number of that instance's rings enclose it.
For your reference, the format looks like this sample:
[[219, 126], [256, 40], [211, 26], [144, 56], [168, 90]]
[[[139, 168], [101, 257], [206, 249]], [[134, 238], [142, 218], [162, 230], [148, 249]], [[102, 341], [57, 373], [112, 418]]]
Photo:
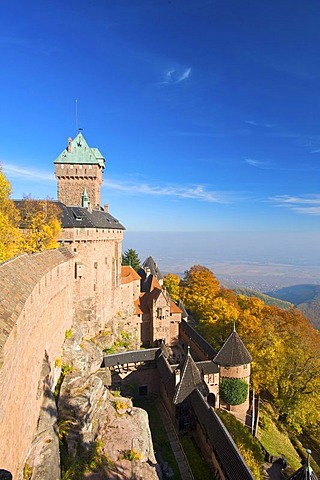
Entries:
[[77, 321], [81, 322], [87, 337], [110, 328], [119, 312], [122, 239], [123, 230], [68, 228], [62, 231], [60, 241], [75, 256], [72, 278]]

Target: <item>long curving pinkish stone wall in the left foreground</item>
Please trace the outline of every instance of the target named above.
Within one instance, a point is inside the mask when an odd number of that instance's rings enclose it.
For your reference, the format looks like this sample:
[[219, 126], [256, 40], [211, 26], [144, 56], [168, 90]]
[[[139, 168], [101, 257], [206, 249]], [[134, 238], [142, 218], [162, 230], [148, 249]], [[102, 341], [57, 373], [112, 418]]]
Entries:
[[[0, 265], [0, 468], [21, 474], [45, 386], [60, 371], [73, 317], [74, 256], [66, 248]], [[46, 385], [45, 385], [46, 384]]]

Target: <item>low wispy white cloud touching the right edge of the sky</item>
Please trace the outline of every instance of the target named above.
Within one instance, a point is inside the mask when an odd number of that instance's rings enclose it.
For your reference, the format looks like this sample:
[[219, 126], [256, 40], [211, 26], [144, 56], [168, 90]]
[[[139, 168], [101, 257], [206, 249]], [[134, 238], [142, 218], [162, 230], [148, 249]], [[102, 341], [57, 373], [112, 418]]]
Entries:
[[301, 196], [276, 195], [270, 200], [276, 207], [284, 207], [303, 215], [320, 215], [320, 194]]

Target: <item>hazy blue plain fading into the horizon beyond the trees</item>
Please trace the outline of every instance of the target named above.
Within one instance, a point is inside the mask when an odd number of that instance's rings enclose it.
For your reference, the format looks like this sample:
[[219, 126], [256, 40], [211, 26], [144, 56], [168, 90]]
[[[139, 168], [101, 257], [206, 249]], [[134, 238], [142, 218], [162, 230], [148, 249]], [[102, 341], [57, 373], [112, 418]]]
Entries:
[[130, 232], [123, 251], [151, 255], [164, 273], [204, 265], [224, 283], [272, 290], [320, 283], [320, 234], [305, 232]]

